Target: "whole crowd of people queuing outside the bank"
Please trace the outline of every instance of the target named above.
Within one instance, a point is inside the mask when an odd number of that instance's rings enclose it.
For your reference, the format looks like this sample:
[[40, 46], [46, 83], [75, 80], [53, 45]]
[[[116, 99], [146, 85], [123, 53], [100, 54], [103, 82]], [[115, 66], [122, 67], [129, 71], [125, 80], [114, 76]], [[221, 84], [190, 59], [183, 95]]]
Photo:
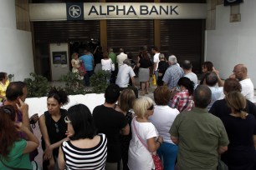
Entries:
[[[110, 48], [99, 59], [100, 50], [97, 58], [86, 50], [82, 57], [72, 55], [72, 71], [79, 72], [82, 60], [87, 76], [80, 78], [88, 86], [94, 68], [114, 74], [115, 64], [118, 70], [115, 83], [105, 89], [105, 102], [93, 112], [84, 104], [61, 108], [69, 97], [52, 88], [48, 110], [29, 118], [26, 84], [9, 83], [7, 73], [0, 72], [6, 86], [0, 93], [0, 169], [39, 169], [34, 161], [39, 140], [31, 120], [39, 122], [42, 133], [43, 169], [215, 170], [218, 163], [229, 170], [256, 169], [256, 106], [247, 67], [236, 65], [222, 80], [212, 62], [203, 62], [198, 81], [190, 61], [180, 65], [177, 57], [166, 58], [157, 47], [151, 49], [152, 60], [141, 47], [135, 66], [123, 48], [116, 57]], [[145, 97], [151, 73], [157, 82], [153, 98]]]

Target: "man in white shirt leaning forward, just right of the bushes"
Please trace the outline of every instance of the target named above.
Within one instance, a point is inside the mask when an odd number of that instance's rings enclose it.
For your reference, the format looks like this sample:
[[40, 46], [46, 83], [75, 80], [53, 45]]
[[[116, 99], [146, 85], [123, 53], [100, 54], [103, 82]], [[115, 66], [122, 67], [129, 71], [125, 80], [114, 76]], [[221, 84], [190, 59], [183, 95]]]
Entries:
[[[138, 97], [138, 89], [136, 87], [135, 76], [136, 74], [131, 67], [131, 61], [129, 59], [125, 59], [124, 63], [118, 70], [115, 84], [117, 84], [121, 89], [131, 88], [135, 92], [136, 97]], [[130, 78], [132, 86], [129, 86]]]

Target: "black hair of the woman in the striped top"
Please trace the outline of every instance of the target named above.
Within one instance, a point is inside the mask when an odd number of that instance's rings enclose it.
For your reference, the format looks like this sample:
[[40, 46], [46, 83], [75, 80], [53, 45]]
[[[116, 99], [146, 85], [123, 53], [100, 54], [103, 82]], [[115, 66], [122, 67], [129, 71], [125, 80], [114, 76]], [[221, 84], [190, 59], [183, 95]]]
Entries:
[[81, 138], [94, 138], [96, 135], [95, 122], [91, 115], [90, 109], [84, 104], [77, 104], [69, 107], [67, 117], [74, 128], [74, 135], [70, 137], [71, 140], [78, 140]]

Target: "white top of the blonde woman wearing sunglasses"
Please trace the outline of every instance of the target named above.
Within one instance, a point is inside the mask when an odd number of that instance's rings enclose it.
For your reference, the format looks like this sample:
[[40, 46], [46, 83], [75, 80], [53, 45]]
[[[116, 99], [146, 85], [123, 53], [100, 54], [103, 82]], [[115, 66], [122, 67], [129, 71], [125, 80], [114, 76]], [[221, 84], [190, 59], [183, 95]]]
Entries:
[[[149, 138], [158, 137], [156, 128], [151, 122], [137, 122], [135, 120], [135, 126], [137, 133], [140, 136], [143, 143], [146, 143], [146, 140]], [[153, 158], [151, 153], [147, 148], [141, 143], [139, 138], [136, 136], [134, 130], [133, 122], [131, 122], [131, 132], [132, 138], [128, 151], [128, 167], [131, 170], [151, 170], [155, 168]]]

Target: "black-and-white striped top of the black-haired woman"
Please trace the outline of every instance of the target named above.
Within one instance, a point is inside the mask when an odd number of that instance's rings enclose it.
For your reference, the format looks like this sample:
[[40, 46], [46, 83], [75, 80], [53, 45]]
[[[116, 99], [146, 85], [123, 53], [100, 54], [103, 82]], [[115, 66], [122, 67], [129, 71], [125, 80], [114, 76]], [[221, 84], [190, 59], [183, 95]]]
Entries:
[[64, 141], [61, 148], [67, 169], [105, 169], [107, 139], [100, 135], [100, 143], [94, 148], [76, 148], [70, 141]]

